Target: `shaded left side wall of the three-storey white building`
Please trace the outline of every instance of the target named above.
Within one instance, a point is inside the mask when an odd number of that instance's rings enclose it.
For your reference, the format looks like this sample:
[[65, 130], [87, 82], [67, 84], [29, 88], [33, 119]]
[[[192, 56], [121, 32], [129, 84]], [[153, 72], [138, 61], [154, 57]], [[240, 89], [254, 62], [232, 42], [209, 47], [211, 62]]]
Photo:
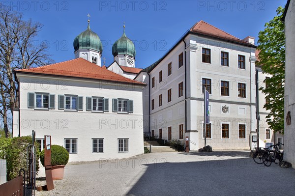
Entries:
[[[179, 124], [183, 124], [185, 133], [185, 98], [178, 97], [178, 84], [183, 82], [184, 87], [184, 64], [178, 68], [178, 55], [183, 53], [184, 44], [179, 44], [168, 56], [166, 56], [152, 71], [150, 81], [155, 78], [155, 86], [150, 88], [150, 104], [154, 99], [154, 110], [150, 106], [150, 131], [154, 130], [159, 136], [162, 129], [162, 139], [168, 140], [168, 127], [172, 127], [172, 139], [179, 139]], [[168, 64], [172, 63], [172, 74], [168, 76]], [[184, 62], [184, 61], [183, 61]], [[159, 83], [159, 72], [162, 71], [162, 82]], [[151, 82], [150, 82], [151, 83]], [[168, 102], [168, 90], [172, 90], [172, 100]], [[159, 107], [159, 95], [162, 94], [162, 106]]]

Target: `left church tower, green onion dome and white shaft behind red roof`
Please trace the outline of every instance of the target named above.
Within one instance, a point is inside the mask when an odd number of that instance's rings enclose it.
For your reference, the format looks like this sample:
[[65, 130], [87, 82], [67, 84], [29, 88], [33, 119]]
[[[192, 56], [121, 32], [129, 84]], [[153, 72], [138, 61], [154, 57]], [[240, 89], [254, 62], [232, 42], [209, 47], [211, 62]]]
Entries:
[[99, 36], [88, 27], [74, 39], [75, 58], [84, 58], [101, 66], [102, 44]]

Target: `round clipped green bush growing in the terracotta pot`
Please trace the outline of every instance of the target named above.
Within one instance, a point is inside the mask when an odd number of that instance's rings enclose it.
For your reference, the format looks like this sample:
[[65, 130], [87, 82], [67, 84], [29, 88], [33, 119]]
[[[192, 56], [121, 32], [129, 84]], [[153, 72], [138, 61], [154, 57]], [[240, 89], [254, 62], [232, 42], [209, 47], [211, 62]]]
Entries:
[[[44, 166], [44, 153], [43, 149], [40, 153], [40, 161], [42, 166]], [[66, 149], [60, 145], [51, 145], [51, 165], [60, 166], [66, 165], [69, 162], [69, 153]]]

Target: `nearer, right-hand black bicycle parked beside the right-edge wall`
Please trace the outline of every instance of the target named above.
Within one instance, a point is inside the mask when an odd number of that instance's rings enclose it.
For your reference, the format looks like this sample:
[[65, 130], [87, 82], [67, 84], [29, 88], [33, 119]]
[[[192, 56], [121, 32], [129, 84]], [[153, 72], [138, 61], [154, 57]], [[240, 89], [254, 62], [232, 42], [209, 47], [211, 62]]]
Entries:
[[[277, 143], [269, 147], [273, 147], [274, 150], [266, 149], [266, 152], [262, 156], [263, 163], [266, 167], [269, 167], [272, 162], [278, 159], [279, 162], [283, 161], [284, 153], [279, 150], [279, 145], [284, 145], [282, 143]], [[277, 163], [275, 163], [277, 164]]]

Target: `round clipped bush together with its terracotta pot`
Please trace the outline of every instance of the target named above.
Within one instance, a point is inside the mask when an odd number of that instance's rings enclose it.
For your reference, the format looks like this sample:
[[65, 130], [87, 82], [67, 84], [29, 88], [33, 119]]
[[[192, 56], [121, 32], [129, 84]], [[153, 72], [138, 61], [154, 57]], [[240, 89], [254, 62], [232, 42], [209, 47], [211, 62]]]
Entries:
[[[44, 166], [44, 149], [40, 154], [41, 164]], [[51, 145], [51, 165], [52, 165], [52, 179], [63, 179], [64, 166], [69, 161], [68, 151], [60, 145]]]

